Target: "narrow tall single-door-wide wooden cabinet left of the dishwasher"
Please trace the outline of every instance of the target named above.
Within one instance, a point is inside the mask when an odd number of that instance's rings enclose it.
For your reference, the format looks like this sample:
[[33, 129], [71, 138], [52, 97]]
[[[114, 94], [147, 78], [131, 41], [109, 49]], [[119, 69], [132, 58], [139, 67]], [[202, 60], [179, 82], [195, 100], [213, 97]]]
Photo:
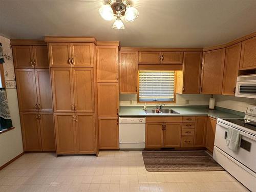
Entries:
[[119, 149], [119, 42], [98, 42], [99, 148]]

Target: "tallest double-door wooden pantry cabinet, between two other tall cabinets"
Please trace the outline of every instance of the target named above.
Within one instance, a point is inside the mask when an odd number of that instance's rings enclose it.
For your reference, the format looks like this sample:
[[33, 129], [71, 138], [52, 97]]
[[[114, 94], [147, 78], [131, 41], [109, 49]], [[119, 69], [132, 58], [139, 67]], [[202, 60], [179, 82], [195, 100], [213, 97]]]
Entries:
[[98, 154], [96, 45], [91, 37], [46, 37], [56, 154]]

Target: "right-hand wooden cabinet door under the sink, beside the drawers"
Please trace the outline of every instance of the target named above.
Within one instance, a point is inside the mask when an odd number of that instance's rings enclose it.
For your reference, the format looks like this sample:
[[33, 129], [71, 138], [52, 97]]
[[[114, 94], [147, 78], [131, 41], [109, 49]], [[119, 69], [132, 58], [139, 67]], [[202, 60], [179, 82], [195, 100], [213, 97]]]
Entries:
[[182, 123], [165, 123], [163, 147], [180, 147]]

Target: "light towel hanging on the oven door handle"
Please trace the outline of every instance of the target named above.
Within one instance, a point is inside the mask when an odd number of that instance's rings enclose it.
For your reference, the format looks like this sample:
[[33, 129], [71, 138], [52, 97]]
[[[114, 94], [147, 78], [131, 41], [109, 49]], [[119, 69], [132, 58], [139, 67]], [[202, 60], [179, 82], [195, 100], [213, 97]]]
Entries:
[[230, 148], [230, 150], [236, 152], [238, 147], [240, 146], [241, 142], [241, 135], [240, 132], [231, 126], [227, 129], [227, 139], [226, 139], [226, 146]]

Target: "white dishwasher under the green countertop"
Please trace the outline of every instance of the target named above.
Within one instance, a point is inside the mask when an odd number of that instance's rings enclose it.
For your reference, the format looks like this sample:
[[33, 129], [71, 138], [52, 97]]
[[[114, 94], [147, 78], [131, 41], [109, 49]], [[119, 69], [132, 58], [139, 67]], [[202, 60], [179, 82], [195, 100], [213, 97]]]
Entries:
[[145, 148], [145, 117], [119, 117], [119, 148]]

